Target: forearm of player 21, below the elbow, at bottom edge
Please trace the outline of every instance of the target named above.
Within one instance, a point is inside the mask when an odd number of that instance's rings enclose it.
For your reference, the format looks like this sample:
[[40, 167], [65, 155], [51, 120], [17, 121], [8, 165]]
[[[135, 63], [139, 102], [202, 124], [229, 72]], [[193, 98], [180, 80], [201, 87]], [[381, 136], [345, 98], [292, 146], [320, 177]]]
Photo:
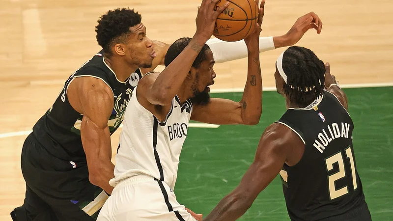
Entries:
[[229, 193], [203, 221], [235, 221], [250, 208], [244, 196]]

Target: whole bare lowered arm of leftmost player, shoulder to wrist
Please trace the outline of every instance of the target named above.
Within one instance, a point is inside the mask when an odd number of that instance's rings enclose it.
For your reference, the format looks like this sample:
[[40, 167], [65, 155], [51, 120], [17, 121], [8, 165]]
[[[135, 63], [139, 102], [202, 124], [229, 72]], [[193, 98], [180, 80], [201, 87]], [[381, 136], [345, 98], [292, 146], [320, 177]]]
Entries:
[[81, 138], [90, 183], [111, 194], [114, 165], [108, 119], [113, 110], [112, 90], [100, 79], [80, 77], [70, 84], [67, 96], [71, 106], [84, 115]]

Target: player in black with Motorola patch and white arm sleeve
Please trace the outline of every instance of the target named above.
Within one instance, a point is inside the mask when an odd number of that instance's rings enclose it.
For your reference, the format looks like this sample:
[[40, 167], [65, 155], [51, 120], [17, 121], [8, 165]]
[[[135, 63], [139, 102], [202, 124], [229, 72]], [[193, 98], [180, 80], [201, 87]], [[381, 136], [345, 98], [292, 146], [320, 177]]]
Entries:
[[[24, 205], [11, 213], [14, 221], [97, 217], [112, 192], [110, 135], [121, 124], [141, 74], [162, 65], [168, 49], [150, 41], [140, 21], [140, 15], [129, 9], [102, 16], [96, 32], [103, 50], [66, 81], [24, 143], [21, 161], [27, 191]], [[299, 25], [297, 21], [285, 35], [260, 38], [261, 52], [299, 41], [307, 31], [296, 29]], [[224, 56], [217, 39], [214, 45], [219, 62], [240, 58]]]

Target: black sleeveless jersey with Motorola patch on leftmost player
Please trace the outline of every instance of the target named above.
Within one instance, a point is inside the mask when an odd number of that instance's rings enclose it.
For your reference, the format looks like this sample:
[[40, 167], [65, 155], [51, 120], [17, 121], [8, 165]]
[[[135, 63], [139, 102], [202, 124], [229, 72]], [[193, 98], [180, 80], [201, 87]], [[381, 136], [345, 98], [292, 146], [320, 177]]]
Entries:
[[130, 78], [121, 82], [112, 69], [105, 63], [103, 51], [94, 55], [82, 65], [65, 82], [64, 88], [54, 105], [42, 116], [33, 127], [33, 135], [39, 143], [54, 157], [75, 163], [85, 164], [86, 156], [81, 140], [81, 123], [83, 115], [75, 111], [68, 101], [67, 88], [78, 77], [101, 79], [112, 89], [113, 111], [108, 120], [111, 135], [123, 121], [124, 111], [131, 99], [133, 89], [141, 78], [140, 70], [130, 73]]

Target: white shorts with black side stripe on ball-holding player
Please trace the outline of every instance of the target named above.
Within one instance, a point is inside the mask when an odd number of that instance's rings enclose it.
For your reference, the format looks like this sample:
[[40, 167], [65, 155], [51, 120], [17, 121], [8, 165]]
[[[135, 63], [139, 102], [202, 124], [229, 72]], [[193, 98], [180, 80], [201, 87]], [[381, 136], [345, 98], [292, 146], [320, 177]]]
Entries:
[[196, 221], [169, 186], [151, 176], [135, 176], [116, 185], [97, 221]]

